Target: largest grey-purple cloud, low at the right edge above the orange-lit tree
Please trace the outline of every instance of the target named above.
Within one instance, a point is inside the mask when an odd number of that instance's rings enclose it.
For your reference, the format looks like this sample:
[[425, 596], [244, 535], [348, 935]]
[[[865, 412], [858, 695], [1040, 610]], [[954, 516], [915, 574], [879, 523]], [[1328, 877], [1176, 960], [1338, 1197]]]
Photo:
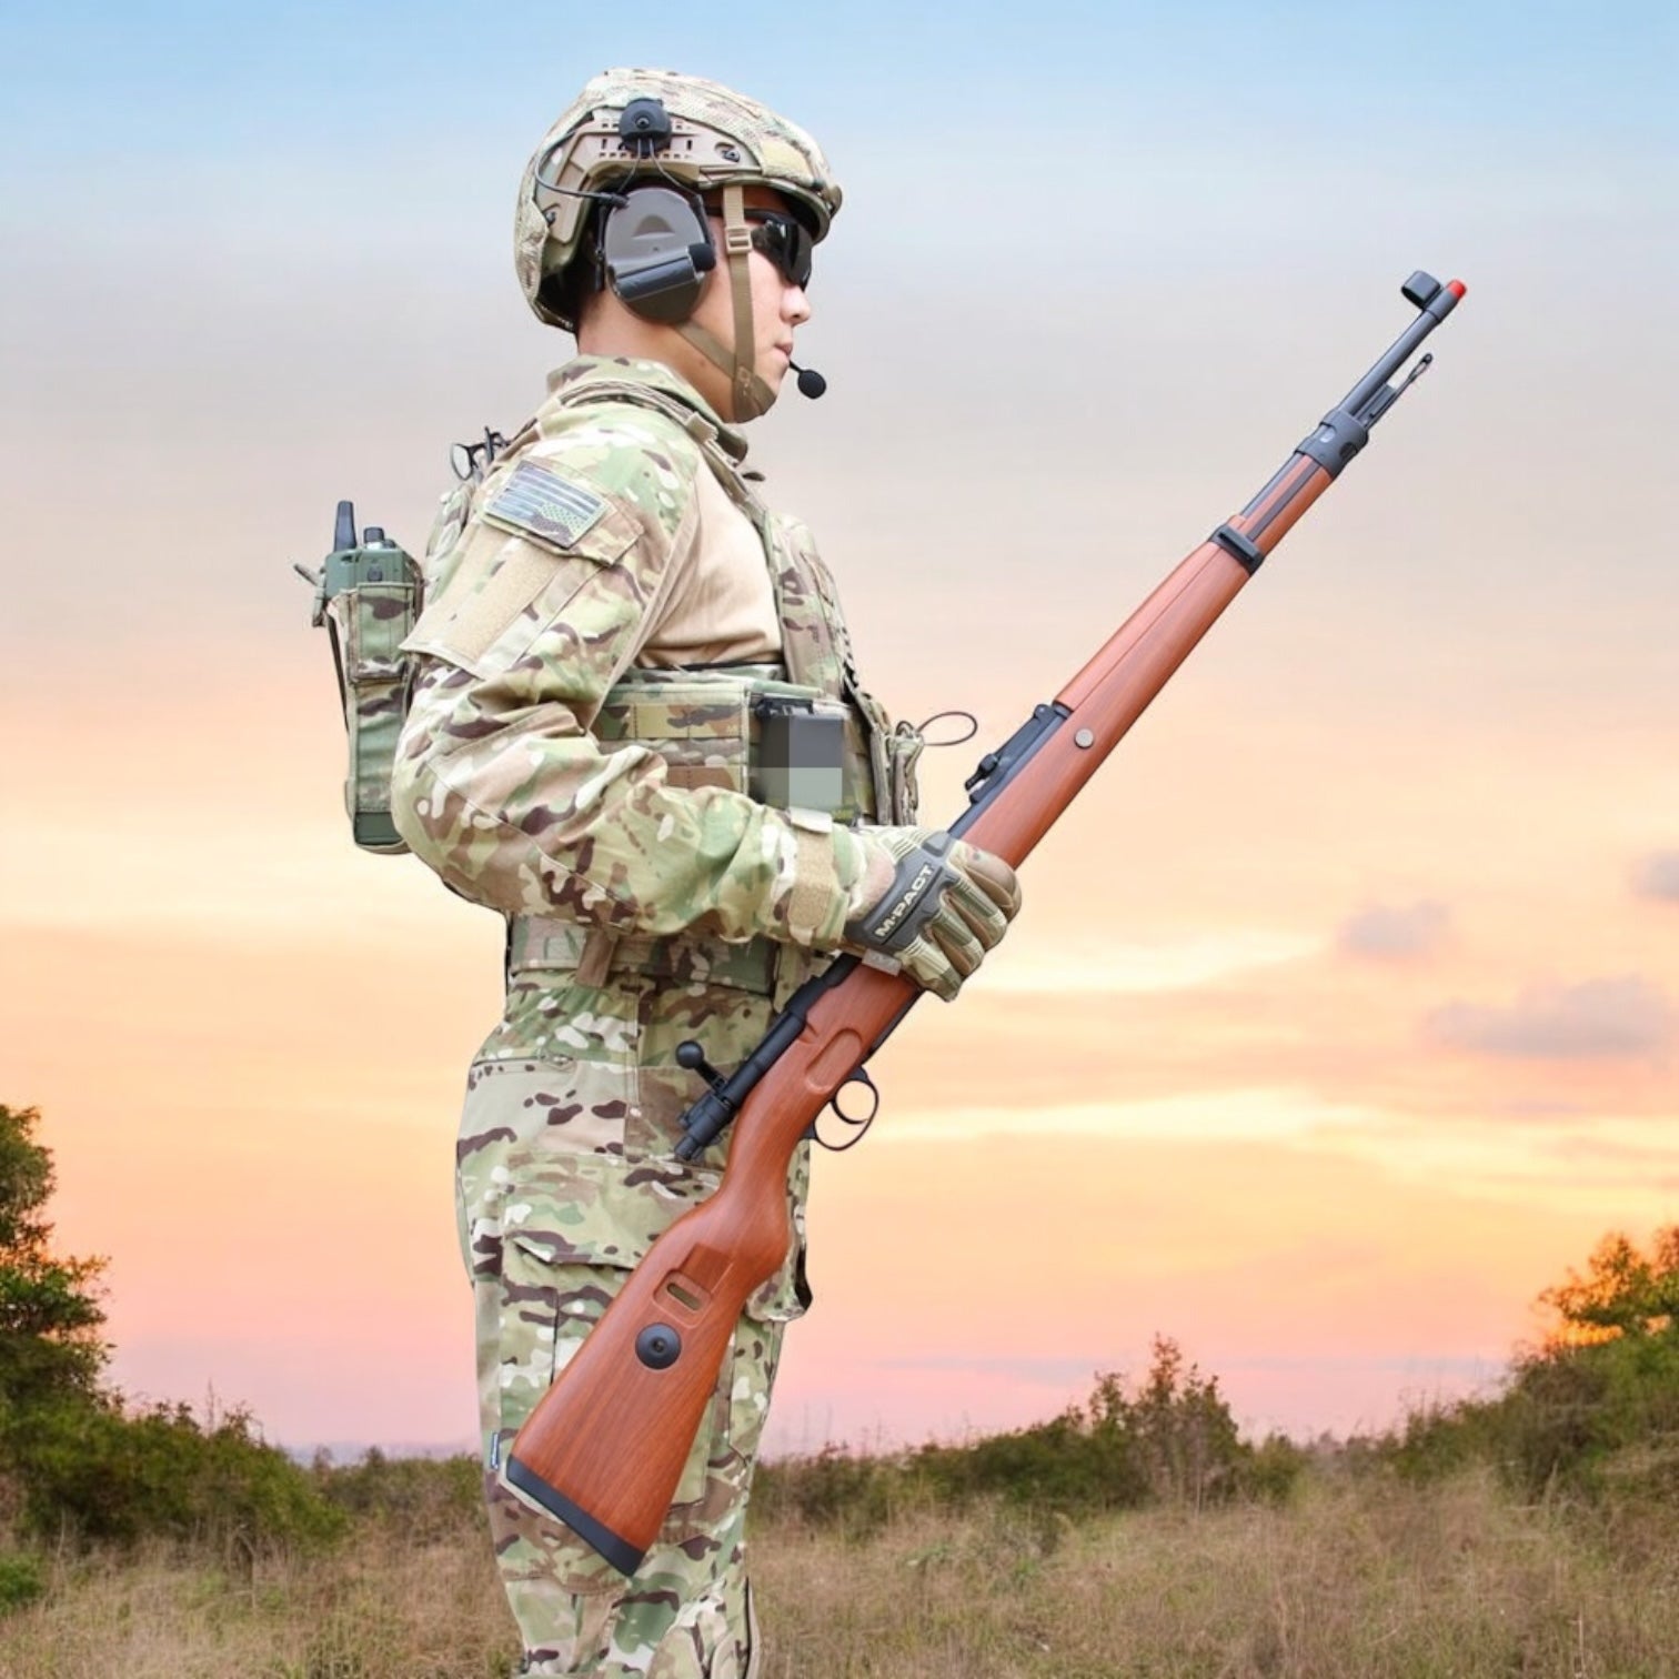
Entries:
[[1578, 986], [1536, 986], [1509, 1007], [1449, 1002], [1424, 1021], [1424, 1034], [1469, 1054], [1555, 1061], [1635, 1061], [1676, 1036], [1667, 994], [1627, 974]]

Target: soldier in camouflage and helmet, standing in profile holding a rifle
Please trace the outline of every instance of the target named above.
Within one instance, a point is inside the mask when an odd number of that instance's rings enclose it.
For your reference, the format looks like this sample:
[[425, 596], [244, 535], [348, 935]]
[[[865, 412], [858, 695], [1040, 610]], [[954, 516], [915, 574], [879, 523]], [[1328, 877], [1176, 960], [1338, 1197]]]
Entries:
[[[405, 643], [398, 828], [509, 923], [458, 1216], [490, 1528], [527, 1672], [756, 1666], [742, 1525], [782, 1326], [809, 1301], [803, 1145], [792, 1251], [747, 1305], [638, 1573], [497, 1472], [630, 1268], [719, 1182], [725, 1142], [692, 1167], [673, 1155], [700, 1093], [677, 1046], [732, 1066], [838, 950], [950, 997], [1019, 903], [1006, 863], [915, 826], [920, 737], [858, 683], [809, 532], [742, 472], [737, 425], [787, 374], [838, 208], [811, 138], [751, 99], [648, 71], [584, 87], [515, 217], [526, 297], [579, 356], [445, 499]], [[928, 866], [940, 887], [887, 955], [868, 912], [913, 900]]]

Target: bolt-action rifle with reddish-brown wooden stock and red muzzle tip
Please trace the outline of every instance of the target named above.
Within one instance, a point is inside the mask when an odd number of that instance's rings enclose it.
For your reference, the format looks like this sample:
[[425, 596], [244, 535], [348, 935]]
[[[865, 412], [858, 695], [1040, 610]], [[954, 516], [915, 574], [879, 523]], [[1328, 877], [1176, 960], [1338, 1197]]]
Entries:
[[[1412, 274], [1419, 311], [1269, 484], [1221, 524], [1048, 705], [967, 781], [950, 833], [1019, 866], [1165, 687], [1190, 648], [1370, 440], [1370, 428], [1434, 359], [1412, 353], [1464, 296]], [[677, 1153], [695, 1159], [730, 1122], [722, 1185], [653, 1242], [601, 1321], [514, 1439], [507, 1481], [630, 1575], [653, 1543], [710, 1402], [747, 1296], [787, 1251], [792, 1150], [920, 991], [840, 957], [808, 981], [762, 1043], [724, 1078], [697, 1044], [678, 1058], [710, 1090], [683, 1115]], [[871, 1088], [871, 1086], [870, 1086]]]

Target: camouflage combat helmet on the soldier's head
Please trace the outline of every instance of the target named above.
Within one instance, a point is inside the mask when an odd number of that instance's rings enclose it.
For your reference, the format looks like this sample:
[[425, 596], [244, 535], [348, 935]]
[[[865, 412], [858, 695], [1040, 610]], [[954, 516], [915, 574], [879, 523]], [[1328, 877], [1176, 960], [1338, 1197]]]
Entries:
[[[638, 138], [636, 101], [668, 118], [668, 143]], [[655, 106], [645, 107], [662, 133]], [[628, 129], [628, 133], [626, 133]], [[526, 166], [514, 215], [514, 267], [537, 319], [576, 331], [571, 270], [584, 257], [593, 193], [638, 180], [695, 193], [762, 185], [782, 193], [821, 240], [840, 212], [840, 186], [821, 148], [794, 123], [719, 82], [677, 71], [603, 71], [542, 136]]]

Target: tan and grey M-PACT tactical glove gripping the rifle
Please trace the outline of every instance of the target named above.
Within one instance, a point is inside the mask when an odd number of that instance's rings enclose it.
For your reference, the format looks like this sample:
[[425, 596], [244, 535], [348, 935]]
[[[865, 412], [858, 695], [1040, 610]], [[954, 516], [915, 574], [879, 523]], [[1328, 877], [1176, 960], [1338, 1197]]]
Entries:
[[1014, 870], [939, 829], [853, 828], [850, 836], [866, 866], [851, 887], [846, 944], [949, 1002], [1021, 907]]

